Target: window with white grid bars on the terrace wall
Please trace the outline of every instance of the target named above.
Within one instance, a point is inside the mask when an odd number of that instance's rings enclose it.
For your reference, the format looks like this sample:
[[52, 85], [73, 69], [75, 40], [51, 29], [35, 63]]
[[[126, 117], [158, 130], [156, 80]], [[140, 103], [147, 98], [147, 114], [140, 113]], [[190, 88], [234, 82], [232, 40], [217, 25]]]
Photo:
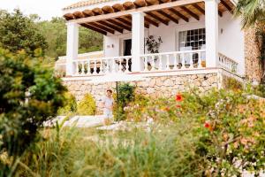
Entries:
[[181, 31], [178, 34], [178, 50], [201, 50], [205, 45], [205, 28]]

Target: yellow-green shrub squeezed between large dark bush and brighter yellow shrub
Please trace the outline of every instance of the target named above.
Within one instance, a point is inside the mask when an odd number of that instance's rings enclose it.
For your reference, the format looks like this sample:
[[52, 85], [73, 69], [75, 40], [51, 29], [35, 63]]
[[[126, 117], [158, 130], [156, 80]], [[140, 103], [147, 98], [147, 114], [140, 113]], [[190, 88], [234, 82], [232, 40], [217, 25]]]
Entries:
[[64, 97], [64, 107], [58, 110], [58, 115], [65, 116], [77, 112], [77, 102], [75, 97], [69, 92], [65, 93]]

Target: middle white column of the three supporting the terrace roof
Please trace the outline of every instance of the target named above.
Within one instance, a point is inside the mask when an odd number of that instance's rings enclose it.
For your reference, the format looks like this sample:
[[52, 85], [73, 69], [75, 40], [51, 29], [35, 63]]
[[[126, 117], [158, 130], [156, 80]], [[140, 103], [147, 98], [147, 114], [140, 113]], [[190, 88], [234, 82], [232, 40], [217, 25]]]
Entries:
[[132, 27], [132, 69], [133, 72], [139, 72], [143, 69], [143, 62], [140, 61], [140, 55], [144, 54], [144, 13], [133, 12], [133, 27]]

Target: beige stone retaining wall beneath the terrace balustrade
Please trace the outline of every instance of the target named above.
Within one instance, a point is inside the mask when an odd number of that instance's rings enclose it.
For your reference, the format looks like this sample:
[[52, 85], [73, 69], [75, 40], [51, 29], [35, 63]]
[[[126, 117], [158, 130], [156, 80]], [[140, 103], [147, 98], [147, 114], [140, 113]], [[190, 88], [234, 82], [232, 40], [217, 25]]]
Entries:
[[[217, 73], [203, 73], [190, 75], [173, 76], [153, 76], [148, 81], [134, 81], [136, 92], [154, 97], [170, 97], [176, 93], [196, 87], [201, 91], [207, 91], [218, 87], [219, 78]], [[64, 81], [64, 85], [69, 89], [77, 100], [89, 93], [95, 97], [97, 111], [101, 112], [100, 102], [106, 89], [115, 89], [115, 82], [90, 83], [89, 81]]]

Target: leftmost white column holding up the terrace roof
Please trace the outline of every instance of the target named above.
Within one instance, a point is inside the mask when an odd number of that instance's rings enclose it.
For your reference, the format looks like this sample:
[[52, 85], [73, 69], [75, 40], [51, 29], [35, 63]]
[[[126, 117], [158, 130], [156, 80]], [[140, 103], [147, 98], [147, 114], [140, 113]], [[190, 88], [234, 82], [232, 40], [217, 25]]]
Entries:
[[73, 60], [79, 53], [79, 24], [67, 23], [67, 47], [66, 47], [66, 76], [71, 76], [75, 67]]

